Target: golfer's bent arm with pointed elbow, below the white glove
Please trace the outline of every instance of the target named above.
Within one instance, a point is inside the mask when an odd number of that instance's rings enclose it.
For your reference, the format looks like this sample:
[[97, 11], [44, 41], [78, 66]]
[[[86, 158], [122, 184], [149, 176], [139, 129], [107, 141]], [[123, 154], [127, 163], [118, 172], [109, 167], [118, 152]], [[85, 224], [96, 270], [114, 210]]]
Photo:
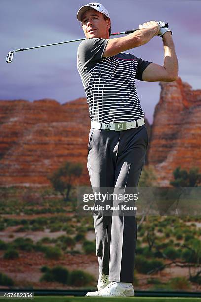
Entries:
[[178, 78], [178, 60], [171, 32], [163, 34], [162, 39], [164, 45], [164, 65], [149, 64], [143, 71], [143, 81], [172, 82]]

